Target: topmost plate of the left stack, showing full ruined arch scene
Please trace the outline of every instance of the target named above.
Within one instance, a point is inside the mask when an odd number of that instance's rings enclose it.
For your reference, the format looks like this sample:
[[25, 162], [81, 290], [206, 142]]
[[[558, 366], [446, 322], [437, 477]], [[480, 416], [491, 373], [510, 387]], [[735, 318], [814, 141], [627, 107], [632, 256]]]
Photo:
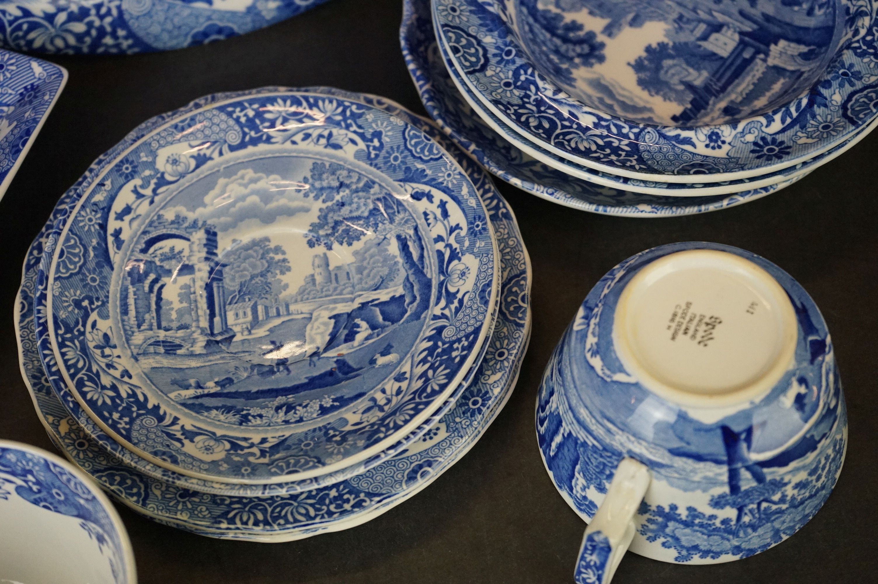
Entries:
[[393, 120], [257, 92], [107, 165], [47, 303], [104, 431], [177, 472], [271, 483], [370, 458], [442, 405], [490, 328], [496, 250], [475, 187]]

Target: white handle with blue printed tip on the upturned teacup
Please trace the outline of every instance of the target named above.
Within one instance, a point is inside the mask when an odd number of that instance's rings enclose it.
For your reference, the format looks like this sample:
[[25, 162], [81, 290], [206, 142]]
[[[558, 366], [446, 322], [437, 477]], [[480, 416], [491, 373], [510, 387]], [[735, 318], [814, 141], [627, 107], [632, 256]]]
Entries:
[[588, 524], [579, 547], [573, 581], [608, 584], [634, 538], [634, 514], [650, 486], [649, 469], [634, 458], [623, 458], [615, 469], [607, 496]]

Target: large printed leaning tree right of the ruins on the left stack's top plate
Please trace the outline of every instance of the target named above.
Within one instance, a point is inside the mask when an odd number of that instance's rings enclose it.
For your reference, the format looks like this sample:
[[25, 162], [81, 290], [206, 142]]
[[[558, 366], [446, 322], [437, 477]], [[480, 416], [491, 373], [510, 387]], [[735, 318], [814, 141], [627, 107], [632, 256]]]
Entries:
[[366, 235], [378, 244], [395, 240], [406, 278], [406, 317], [402, 323], [417, 321], [427, 311], [431, 283], [425, 272], [424, 247], [417, 236], [414, 217], [401, 200], [379, 184], [335, 162], [314, 162], [311, 185], [306, 197], [325, 203], [306, 234], [308, 246], [332, 249], [350, 246]]

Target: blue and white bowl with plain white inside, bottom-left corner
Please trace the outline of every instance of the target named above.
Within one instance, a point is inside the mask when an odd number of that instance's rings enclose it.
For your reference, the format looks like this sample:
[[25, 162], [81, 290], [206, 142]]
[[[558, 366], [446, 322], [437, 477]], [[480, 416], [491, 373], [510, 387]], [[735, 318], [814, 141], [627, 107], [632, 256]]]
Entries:
[[122, 520], [75, 466], [0, 440], [0, 581], [135, 584]]

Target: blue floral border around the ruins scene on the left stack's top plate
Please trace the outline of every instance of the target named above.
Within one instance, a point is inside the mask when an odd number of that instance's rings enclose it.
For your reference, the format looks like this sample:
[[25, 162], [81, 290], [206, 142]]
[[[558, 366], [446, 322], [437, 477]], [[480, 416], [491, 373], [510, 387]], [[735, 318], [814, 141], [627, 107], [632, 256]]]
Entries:
[[[313, 129], [313, 123], [303, 123], [291, 124], [294, 126], [293, 129], [283, 126], [283, 129], [276, 130], [275, 105], [277, 104], [286, 108], [284, 112], [292, 112], [289, 114], [292, 117], [301, 118], [300, 122], [306, 122], [314, 116], [319, 117], [320, 124], [317, 125], [319, 127]], [[472, 194], [467, 194], [467, 192], [471, 193], [473, 188], [472, 185], [466, 186], [468, 179], [459, 175], [460, 170], [454, 168], [453, 163], [445, 161], [442, 156], [437, 158], [429, 150], [425, 153], [413, 150], [412, 148], [417, 148], [412, 144], [416, 144], [419, 140], [417, 138], [419, 132], [410, 126], [402, 132], [402, 128], [392, 126], [386, 118], [386, 114], [374, 111], [368, 106], [326, 96], [278, 94], [239, 97], [221, 107], [206, 108], [204, 112], [196, 112], [176, 119], [166, 130], [155, 133], [152, 138], [145, 138], [133, 152], [117, 161], [112, 172], [104, 178], [104, 182], [92, 189], [91, 198], [84, 200], [83, 206], [80, 207], [83, 210], [90, 210], [91, 213], [97, 213], [102, 218], [99, 223], [102, 234], [97, 238], [97, 248], [94, 248], [96, 253], [90, 254], [91, 259], [86, 262], [78, 244], [80, 241], [88, 241], [94, 235], [86, 233], [83, 229], [88, 230], [95, 226], [86, 224], [87, 222], [70, 220], [68, 221], [70, 231], [66, 239], [59, 242], [59, 251], [54, 258], [55, 278], [58, 278], [55, 282], [61, 283], [60, 288], [55, 285], [57, 289], [53, 290], [54, 296], [67, 298], [72, 294], [76, 298], [84, 299], [81, 304], [59, 302], [54, 310], [56, 330], [54, 346], [65, 347], [64, 365], [67, 367], [69, 379], [76, 384], [80, 394], [78, 399], [87, 400], [86, 403], [89, 404], [94, 415], [102, 416], [108, 426], [117, 430], [116, 433], [121, 439], [136, 444], [141, 451], [147, 451], [169, 465], [189, 468], [191, 471], [210, 474], [213, 477], [240, 478], [245, 476], [241, 472], [249, 470], [248, 479], [254, 482], [256, 477], [265, 479], [265, 482], [279, 482], [288, 475], [298, 474], [304, 470], [313, 471], [317, 467], [338, 463], [339, 446], [343, 447], [342, 451], [345, 455], [343, 459], [358, 456], [360, 458], [352, 460], [357, 462], [366, 458], [363, 454], [366, 449], [371, 448], [372, 451], [378, 452], [382, 450], [381, 444], [392, 445], [392, 436], [399, 436], [400, 432], [407, 433], [420, 424], [417, 416], [420, 415], [423, 419], [436, 407], [441, 406], [444, 396], [453, 390], [457, 380], [461, 379], [468, 369], [468, 364], [475, 357], [473, 351], [480, 347], [480, 342], [477, 342], [479, 335], [483, 335], [486, 331], [487, 323], [484, 316], [488, 307], [493, 306], [495, 298], [493, 241], [485, 226], [479, 227], [480, 222], [484, 223], [485, 216], [479, 213], [485, 212], [480, 211], [482, 205], [479, 201], [473, 198]], [[197, 132], [184, 132], [195, 125], [200, 125]], [[270, 131], [265, 131], [266, 129]], [[472, 292], [453, 301], [443, 300], [435, 306], [426, 336], [419, 341], [421, 346], [430, 349], [419, 350], [411, 378], [406, 376], [406, 379], [402, 379], [394, 376], [389, 385], [378, 388], [378, 394], [375, 396], [378, 400], [376, 407], [363, 410], [362, 415], [358, 415], [347, 428], [338, 428], [336, 421], [331, 428], [324, 424], [325, 427], [322, 429], [308, 430], [307, 436], [310, 436], [308, 445], [311, 445], [310, 440], [325, 443], [327, 446], [325, 453], [317, 448], [310, 448], [306, 453], [300, 452], [297, 444], [304, 438], [296, 434], [269, 443], [263, 441], [256, 445], [254, 439], [248, 438], [243, 429], [240, 429], [240, 432], [236, 429], [234, 434], [217, 433], [217, 430], [206, 429], [198, 422], [173, 415], [166, 411], [162, 404], [140, 391], [138, 386], [131, 384], [130, 377], [126, 379], [125, 369], [119, 363], [106, 361], [104, 350], [101, 349], [103, 344], [90, 347], [89, 336], [85, 335], [83, 338], [82, 334], [76, 333], [76, 330], [86, 325], [92, 314], [97, 314], [98, 319], [107, 318], [106, 315], [102, 316], [102, 311], [106, 310], [102, 306], [103, 301], [87, 294], [87, 285], [84, 281], [76, 283], [81, 278], [86, 278], [86, 272], [90, 274], [109, 270], [122, 243], [132, 233], [132, 221], [127, 220], [129, 215], [136, 220], [155, 202], [156, 198], [161, 198], [162, 192], [167, 192], [169, 184], [176, 183], [186, 174], [176, 167], [169, 169], [168, 164], [165, 165], [164, 170], [154, 168], [156, 162], [153, 151], [165, 146], [165, 141], [169, 140], [169, 137], [177, 135], [182, 136], [177, 141], [184, 141], [185, 144], [203, 141], [212, 144], [211, 148], [198, 151], [198, 160], [186, 165], [186, 170], [189, 172], [212, 158], [219, 158], [245, 148], [258, 148], [263, 144], [300, 144], [315, 148], [316, 151], [320, 148], [329, 148], [333, 152], [345, 149], [349, 151], [348, 155], [356, 154], [361, 162], [394, 177], [394, 180], [401, 180], [400, 184], [411, 191], [416, 200], [424, 199], [423, 202], [426, 204], [425, 198], [432, 193], [435, 201], [429, 198], [430, 205], [436, 205], [436, 211], [428, 213], [425, 217], [434, 231], [452, 228], [443, 227], [443, 221], [449, 220], [446, 205], [450, 204], [448, 209], [454, 205], [457, 209], [454, 213], [465, 218], [466, 225], [461, 226], [464, 229], [460, 238], [435, 240], [437, 253], [441, 252], [439, 257], [448, 260], [440, 266], [440, 277], [443, 279], [439, 282], [439, 290], [443, 298], [446, 300], [450, 298], [448, 297], [450, 292], [442, 292], [447, 287], [443, 285], [443, 281], [448, 279], [450, 282], [450, 278], [453, 278], [451, 269], [454, 267], [454, 261], [457, 261], [455, 258], [466, 256], [473, 258], [475, 262]], [[385, 168], [390, 159], [382, 156], [382, 153], [385, 148], [393, 146], [391, 142], [400, 140], [406, 142], [408, 148], [406, 151], [412, 156], [420, 155], [418, 164], [423, 167], [420, 171], [411, 174], [408, 170], [403, 172], [403, 169], [399, 168]], [[140, 187], [127, 196], [128, 198], [133, 196], [136, 200], [129, 201], [127, 198], [121, 200], [115, 193], [132, 178], [130, 176], [132, 173], [129, 171], [129, 167], [132, 166], [140, 167], [140, 177], [144, 178]], [[414, 170], [414, 165], [409, 166]], [[449, 170], [453, 175], [450, 177], [451, 180], [444, 176], [445, 170]], [[146, 174], [143, 174], [144, 172]], [[402, 176], [403, 174], [405, 176]], [[436, 177], [442, 177], [444, 182]], [[106, 240], [104, 233], [107, 236]], [[464, 234], [465, 239], [463, 239]], [[104, 249], [101, 246], [101, 242], [104, 241], [112, 241], [112, 244], [108, 244]], [[451, 249], [455, 246], [457, 251]], [[83, 270], [83, 266], [88, 266], [88, 270]], [[105, 278], [109, 279], [109, 276]], [[89, 299], [85, 299], [85, 296], [89, 296]], [[465, 344], [456, 347], [457, 340], [464, 341]], [[77, 357], [73, 357], [74, 353]], [[435, 375], [436, 371], [441, 370], [443, 375]], [[94, 388], [99, 391], [96, 393]], [[116, 403], [113, 403], [114, 401]], [[126, 408], [139, 412], [138, 421], [146, 423], [152, 420], [155, 424], [144, 426], [133, 423], [133, 419], [131, 423], [114, 422], [114, 416], [125, 415]], [[253, 460], [245, 460], [235, 454], [235, 452], [249, 451], [248, 449], [253, 447], [258, 451], [258, 459], [264, 464], [254, 464]], [[228, 456], [218, 456], [223, 453]]]

